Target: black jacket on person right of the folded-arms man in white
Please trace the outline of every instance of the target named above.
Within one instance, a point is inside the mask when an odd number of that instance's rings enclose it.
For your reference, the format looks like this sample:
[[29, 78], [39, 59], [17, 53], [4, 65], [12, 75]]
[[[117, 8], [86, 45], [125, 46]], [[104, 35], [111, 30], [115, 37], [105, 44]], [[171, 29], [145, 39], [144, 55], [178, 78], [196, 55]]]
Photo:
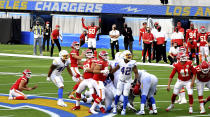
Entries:
[[126, 28], [123, 28], [122, 34], [124, 36], [124, 42], [134, 41], [133, 35], [132, 35], [132, 29], [130, 27], [127, 27], [127, 31], [126, 31]]

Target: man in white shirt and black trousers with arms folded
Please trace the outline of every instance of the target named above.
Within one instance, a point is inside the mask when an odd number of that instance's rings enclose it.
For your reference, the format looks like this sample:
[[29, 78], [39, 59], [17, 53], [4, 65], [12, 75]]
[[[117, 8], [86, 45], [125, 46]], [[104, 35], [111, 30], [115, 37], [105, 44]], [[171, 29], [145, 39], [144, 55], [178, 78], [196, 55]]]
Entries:
[[112, 30], [109, 32], [110, 36], [110, 45], [112, 49], [112, 59], [115, 59], [114, 48], [116, 48], [116, 53], [119, 52], [119, 42], [118, 38], [120, 36], [120, 32], [116, 30], [116, 24], [112, 25]]

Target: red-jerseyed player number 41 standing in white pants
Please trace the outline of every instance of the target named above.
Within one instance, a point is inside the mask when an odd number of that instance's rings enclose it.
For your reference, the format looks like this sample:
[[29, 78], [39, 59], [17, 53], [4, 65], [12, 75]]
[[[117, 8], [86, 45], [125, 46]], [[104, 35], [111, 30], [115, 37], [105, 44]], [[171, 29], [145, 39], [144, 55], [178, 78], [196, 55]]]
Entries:
[[[189, 61], [186, 54], [183, 52], [180, 52], [178, 54], [179, 62], [176, 64], [173, 64], [174, 68], [171, 72], [171, 75], [168, 80], [168, 87], [167, 91], [170, 91], [171, 82], [173, 80], [174, 75], [176, 72], [178, 72], [178, 80], [176, 84], [174, 85], [174, 91], [173, 95], [171, 97], [171, 105], [166, 109], [166, 111], [170, 111], [172, 108], [174, 108], [174, 102], [176, 99], [176, 96], [178, 95], [179, 91], [183, 86], [186, 86], [188, 96], [189, 96], [189, 113], [193, 113], [193, 85], [195, 81], [196, 72], [192, 65], [192, 61]], [[193, 76], [192, 76], [193, 74]]]

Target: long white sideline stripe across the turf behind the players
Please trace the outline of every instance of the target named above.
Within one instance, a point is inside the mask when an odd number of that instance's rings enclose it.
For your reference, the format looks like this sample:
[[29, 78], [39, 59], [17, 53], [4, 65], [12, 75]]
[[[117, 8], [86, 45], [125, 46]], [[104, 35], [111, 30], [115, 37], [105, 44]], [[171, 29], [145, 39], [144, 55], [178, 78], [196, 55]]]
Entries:
[[[24, 54], [8, 54], [8, 53], [0, 53], [0, 56], [13, 56], [13, 57], [25, 57], [25, 58], [39, 58], [39, 59], [54, 59], [56, 57], [50, 57], [50, 56], [36, 56], [36, 55], [24, 55]], [[85, 59], [82, 59], [83, 61]], [[110, 60], [112, 61], [112, 60]], [[142, 63], [137, 62], [137, 65], [149, 65], [149, 66], [163, 66], [163, 67], [173, 67], [169, 64], [161, 64], [161, 63]]]

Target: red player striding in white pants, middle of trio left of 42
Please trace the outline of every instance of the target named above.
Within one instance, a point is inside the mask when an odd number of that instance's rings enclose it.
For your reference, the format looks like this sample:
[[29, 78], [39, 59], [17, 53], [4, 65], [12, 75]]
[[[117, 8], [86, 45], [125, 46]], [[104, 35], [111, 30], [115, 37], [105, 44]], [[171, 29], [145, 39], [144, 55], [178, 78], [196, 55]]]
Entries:
[[80, 109], [81, 93], [86, 89], [86, 87], [89, 88], [91, 94], [94, 92], [91, 82], [93, 80], [93, 68], [95, 66], [96, 60], [93, 58], [93, 52], [90, 49], [86, 50], [85, 57], [86, 61], [83, 63], [84, 80], [80, 83], [76, 90], [76, 105], [74, 108], [72, 108], [72, 110]]

